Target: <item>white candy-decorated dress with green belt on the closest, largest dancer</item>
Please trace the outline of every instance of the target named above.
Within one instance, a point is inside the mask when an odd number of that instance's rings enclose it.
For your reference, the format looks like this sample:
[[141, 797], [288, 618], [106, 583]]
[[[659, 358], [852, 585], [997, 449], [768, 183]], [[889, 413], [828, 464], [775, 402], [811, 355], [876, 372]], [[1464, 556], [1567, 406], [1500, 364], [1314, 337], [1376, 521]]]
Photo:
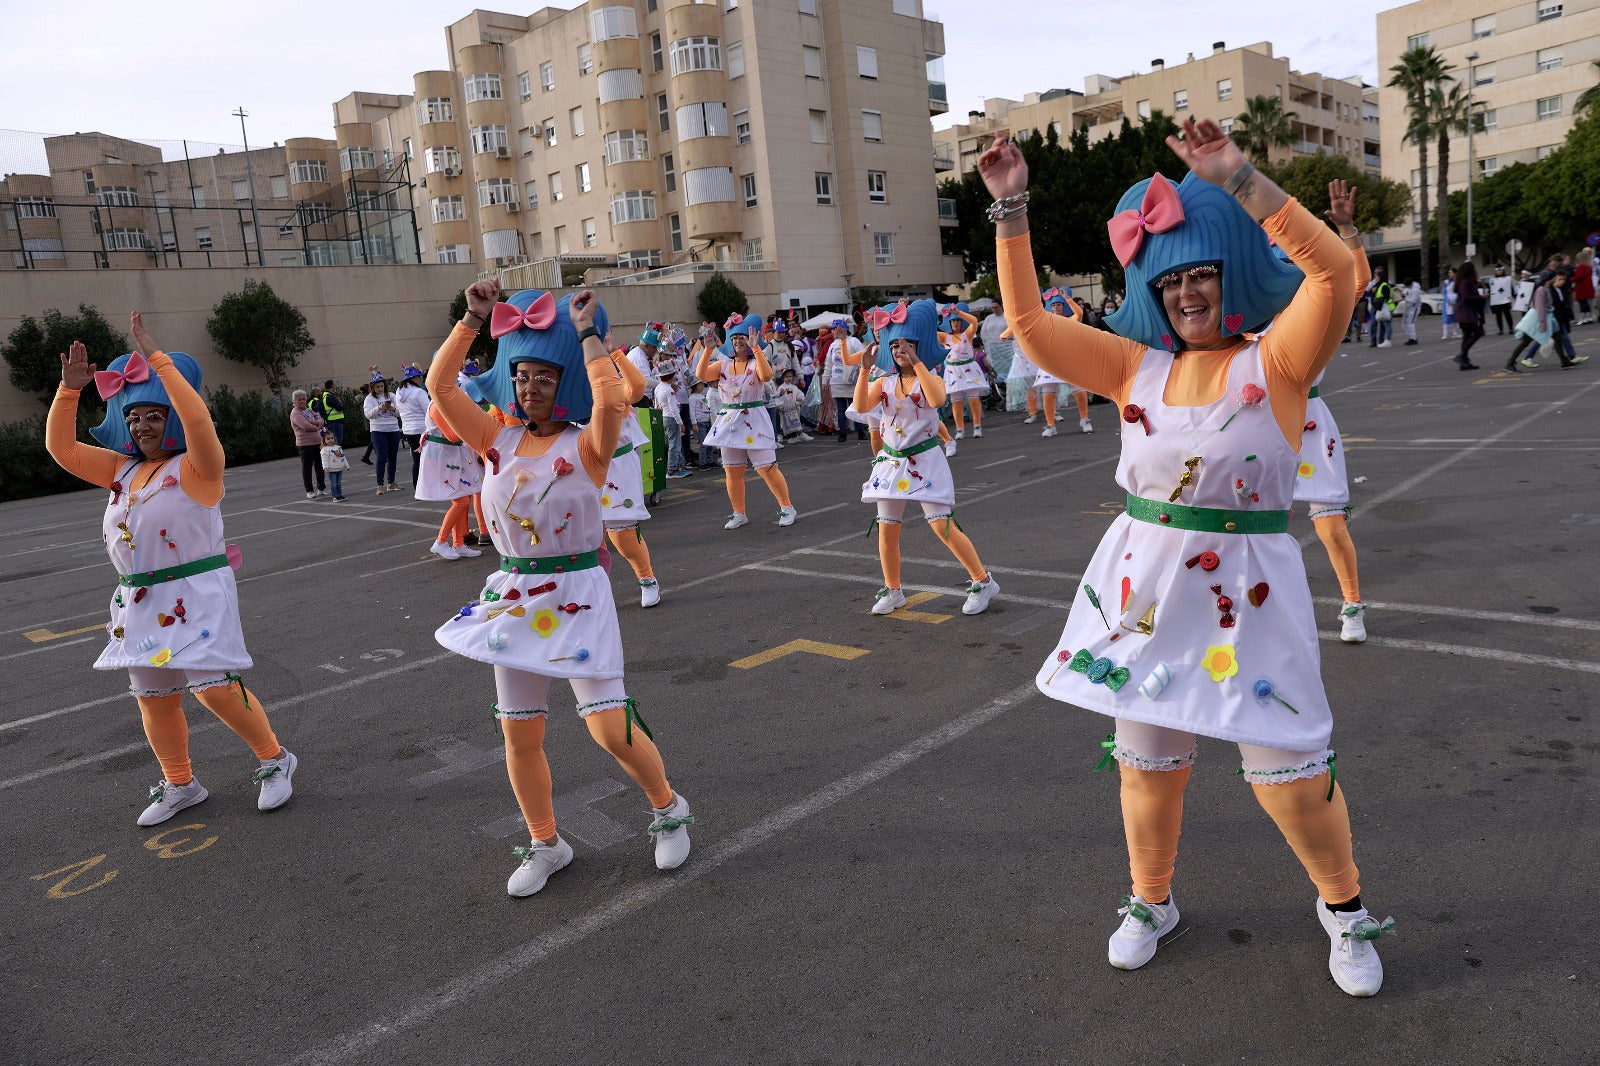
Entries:
[[1205, 407], [1163, 403], [1171, 365], [1170, 352], [1146, 352], [1128, 402], [1149, 431], [1122, 423], [1117, 482], [1150, 501], [1130, 499], [1147, 520], [1123, 514], [1101, 538], [1038, 688], [1202, 736], [1325, 749], [1333, 715], [1299, 543], [1250, 531], [1286, 530], [1298, 463], [1272, 418], [1261, 351], [1240, 349], [1226, 392]]

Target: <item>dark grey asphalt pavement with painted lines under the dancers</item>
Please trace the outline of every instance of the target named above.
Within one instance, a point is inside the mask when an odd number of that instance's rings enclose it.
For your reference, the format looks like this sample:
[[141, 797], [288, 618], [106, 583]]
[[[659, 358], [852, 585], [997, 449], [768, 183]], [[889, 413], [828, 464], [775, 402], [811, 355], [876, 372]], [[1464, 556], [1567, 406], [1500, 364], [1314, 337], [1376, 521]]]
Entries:
[[[1202, 741], [1179, 933], [1106, 962], [1126, 892], [1107, 720], [1032, 687], [1122, 493], [1117, 416], [1042, 439], [987, 416], [952, 459], [1002, 592], [904, 535], [909, 611], [859, 503], [867, 448], [779, 453], [798, 522], [720, 471], [646, 525], [661, 605], [611, 575], [629, 691], [694, 852], [661, 874], [648, 804], [552, 690], [547, 752], [574, 863], [528, 900], [490, 671], [434, 629], [490, 555], [427, 554], [443, 512], [306, 501], [298, 464], [227, 474], [256, 666], [299, 755], [262, 815], [254, 760], [192, 699], [211, 799], [134, 818], [160, 770], [126, 677], [90, 669], [112, 571], [104, 493], [0, 507], [0, 1063], [1581, 1063], [1600, 1044], [1586, 925], [1600, 863], [1600, 359], [1461, 373], [1352, 344], [1322, 395], [1349, 448], [1371, 639], [1296, 515], [1323, 635], [1362, 895], [1394, 916], [1381, 996], [1333, 984], [1315, 890]], [[1600, 327], [1579, 328], [1600, 355]], [[1075, 408], [1062, 410], [1075, 416]]]

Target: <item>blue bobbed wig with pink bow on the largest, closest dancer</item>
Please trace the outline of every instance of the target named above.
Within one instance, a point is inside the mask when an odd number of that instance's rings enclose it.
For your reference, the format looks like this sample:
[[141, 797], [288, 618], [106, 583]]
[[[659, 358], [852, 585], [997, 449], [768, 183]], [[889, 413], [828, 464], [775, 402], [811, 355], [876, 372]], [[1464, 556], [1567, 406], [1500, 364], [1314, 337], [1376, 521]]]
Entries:
[[[1117, 210], [1138, 211], [1149, 184], [1147, 178], [1122, 194]], [[1259, 333], [1290, 306], [1306, 275], [1272, 254], [1261, 224], [1221, 186], [1190, 173], [1178, 186], [1178, 198], [1184, 206], [1184, 221], [1165, 234], [1144, 234], [1139, 253], [1126, 266], [1128, 295], [1106, 325], [1130, 341], [1179, 351], [1182, 338], [1166, 319], [1154, 282], [1173, 271], [1219, 264], [1222, 336]]]

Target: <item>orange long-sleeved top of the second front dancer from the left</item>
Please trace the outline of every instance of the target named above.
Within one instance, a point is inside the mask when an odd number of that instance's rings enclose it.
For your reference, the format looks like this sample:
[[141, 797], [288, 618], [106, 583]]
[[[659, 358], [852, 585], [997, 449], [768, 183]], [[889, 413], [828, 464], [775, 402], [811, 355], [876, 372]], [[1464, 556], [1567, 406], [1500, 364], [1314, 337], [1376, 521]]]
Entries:
[[[475, 331], [456, 323], [427, 368], [427, 391], [467, 447], [483, 455], [494, 447], [494, 439], [506, 426], [474, 403], [472, 397], [456, 384], [456, 375], [461, 373], [461, 363], [466, 360], [475, 336]], [[584, 463], [589, 480], [598, 488], [605, 485], [611, 453], [616, 451], [616, 442], [622, 435], [622, 418], [627, 416], [627, 386], [616, 363], [610, 359], [587, 362], [584, 370], [589, 373], [589, 387], [594, 389], [595, 402], [594, 416], [578, 442], [578, 456]], [[554, 443], [554, 434], [549, 437], [523, 434], [517, 442], [517, 455], [536, 459], [547, 453]]]

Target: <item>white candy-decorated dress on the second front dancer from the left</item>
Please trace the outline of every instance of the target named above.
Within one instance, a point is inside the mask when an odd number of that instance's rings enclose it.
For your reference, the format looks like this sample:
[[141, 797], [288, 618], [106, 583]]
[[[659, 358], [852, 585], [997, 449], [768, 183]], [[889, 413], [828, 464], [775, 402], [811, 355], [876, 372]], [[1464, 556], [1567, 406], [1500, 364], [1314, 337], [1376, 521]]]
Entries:
[[[546, 677], [622, 677], [611, 581], [595, 562], [600, 493], [568, 426], [538, 458], [517, 455], [526, 429], [494, 439], [483, 514], [501, 568], [434, 639], [458, 655]], [[538, 538], [538, 539], [534, 539]]]

